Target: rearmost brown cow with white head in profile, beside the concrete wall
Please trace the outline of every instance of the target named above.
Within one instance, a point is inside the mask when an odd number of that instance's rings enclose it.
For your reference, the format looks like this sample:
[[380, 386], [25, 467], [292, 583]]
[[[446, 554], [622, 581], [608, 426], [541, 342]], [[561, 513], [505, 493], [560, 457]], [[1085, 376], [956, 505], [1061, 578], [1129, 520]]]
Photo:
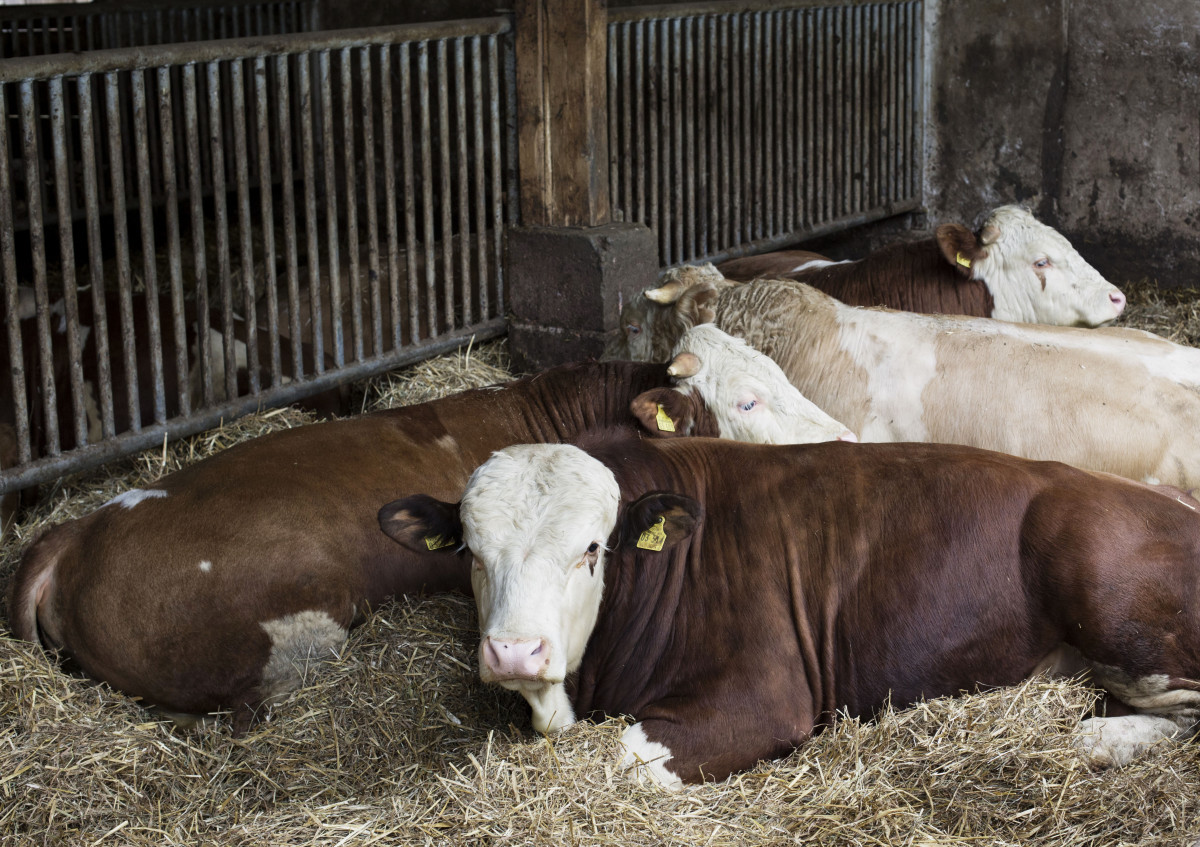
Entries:
[[790, 278], [850, 306], [968, 314], [1066, 326], [1106, 324], [1126, 298], [1058, 232], [1020, 206], [1001, 206], [978, 236], [943, 223], [934, 238], [881, 247], [857, 262], [781, 251], [718, 265], [730, 280]]

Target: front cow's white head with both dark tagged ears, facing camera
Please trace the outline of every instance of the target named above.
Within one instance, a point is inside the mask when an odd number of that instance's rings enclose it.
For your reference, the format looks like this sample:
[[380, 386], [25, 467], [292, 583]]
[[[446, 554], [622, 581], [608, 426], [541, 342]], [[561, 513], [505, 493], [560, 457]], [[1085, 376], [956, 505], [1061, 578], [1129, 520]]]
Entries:
[[480, 678], [520, 691], [539, 732], [575, 721], [563, 683], [595, 627], [605, 557], [643, 536], [667, 548], [690, 535], [700, 515], [695, 500], [658, 493], [630, 504], [618, 523], [619, 504], [617, 480], [601, 462], [571, 445], [533, 444], [493, 453], [461, 504], [419, 494], [380, 511], [384, 531], [416, 549], [461, 527], [474, 557]]

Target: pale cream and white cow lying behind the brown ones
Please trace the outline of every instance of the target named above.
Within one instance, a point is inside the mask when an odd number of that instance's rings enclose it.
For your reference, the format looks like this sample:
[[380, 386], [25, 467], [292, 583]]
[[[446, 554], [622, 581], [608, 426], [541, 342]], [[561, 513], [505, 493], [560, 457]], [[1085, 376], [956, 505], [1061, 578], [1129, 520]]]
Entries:
[[[661, 326], [712, 317], [864, 441], [968, 444], [1200, 486], [1200, 349], [1130, 329], [845, 306], [790, 280], [727, 288], [712, 265], [672, 284], [691, 311]], [[686, 304], [703, 290], [719, 296], [702, 313]]]

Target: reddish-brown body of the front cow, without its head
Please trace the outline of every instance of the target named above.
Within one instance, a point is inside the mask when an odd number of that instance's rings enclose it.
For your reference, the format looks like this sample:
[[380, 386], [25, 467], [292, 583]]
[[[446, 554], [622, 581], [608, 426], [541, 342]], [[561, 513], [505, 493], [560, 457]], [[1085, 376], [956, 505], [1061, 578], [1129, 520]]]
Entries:
[[[685, 781], [786, 755], [839, 710], [1008, 685], [1057, 644], [1200, 684], [1200, 513], [1148, 486], [935, 444], [610, 443], [623, 517], [703, 506], [622, 546], [571, 691], [628, 714]], [[636, 537], [636, 536], [634, 536]]]

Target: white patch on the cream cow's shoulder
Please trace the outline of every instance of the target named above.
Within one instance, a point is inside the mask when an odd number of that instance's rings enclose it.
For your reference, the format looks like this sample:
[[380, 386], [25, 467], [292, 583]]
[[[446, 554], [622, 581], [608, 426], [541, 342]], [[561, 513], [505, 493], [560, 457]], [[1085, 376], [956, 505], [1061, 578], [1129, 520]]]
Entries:
[[[928, 441], [922, 397], [937, 378], [936, 318], [908, 312], [838, 310], [839, 344], [868, 374], [871, 406], [859, 427], [864, 441]], [[916, 331], [914, 331], [916, 330]]]

